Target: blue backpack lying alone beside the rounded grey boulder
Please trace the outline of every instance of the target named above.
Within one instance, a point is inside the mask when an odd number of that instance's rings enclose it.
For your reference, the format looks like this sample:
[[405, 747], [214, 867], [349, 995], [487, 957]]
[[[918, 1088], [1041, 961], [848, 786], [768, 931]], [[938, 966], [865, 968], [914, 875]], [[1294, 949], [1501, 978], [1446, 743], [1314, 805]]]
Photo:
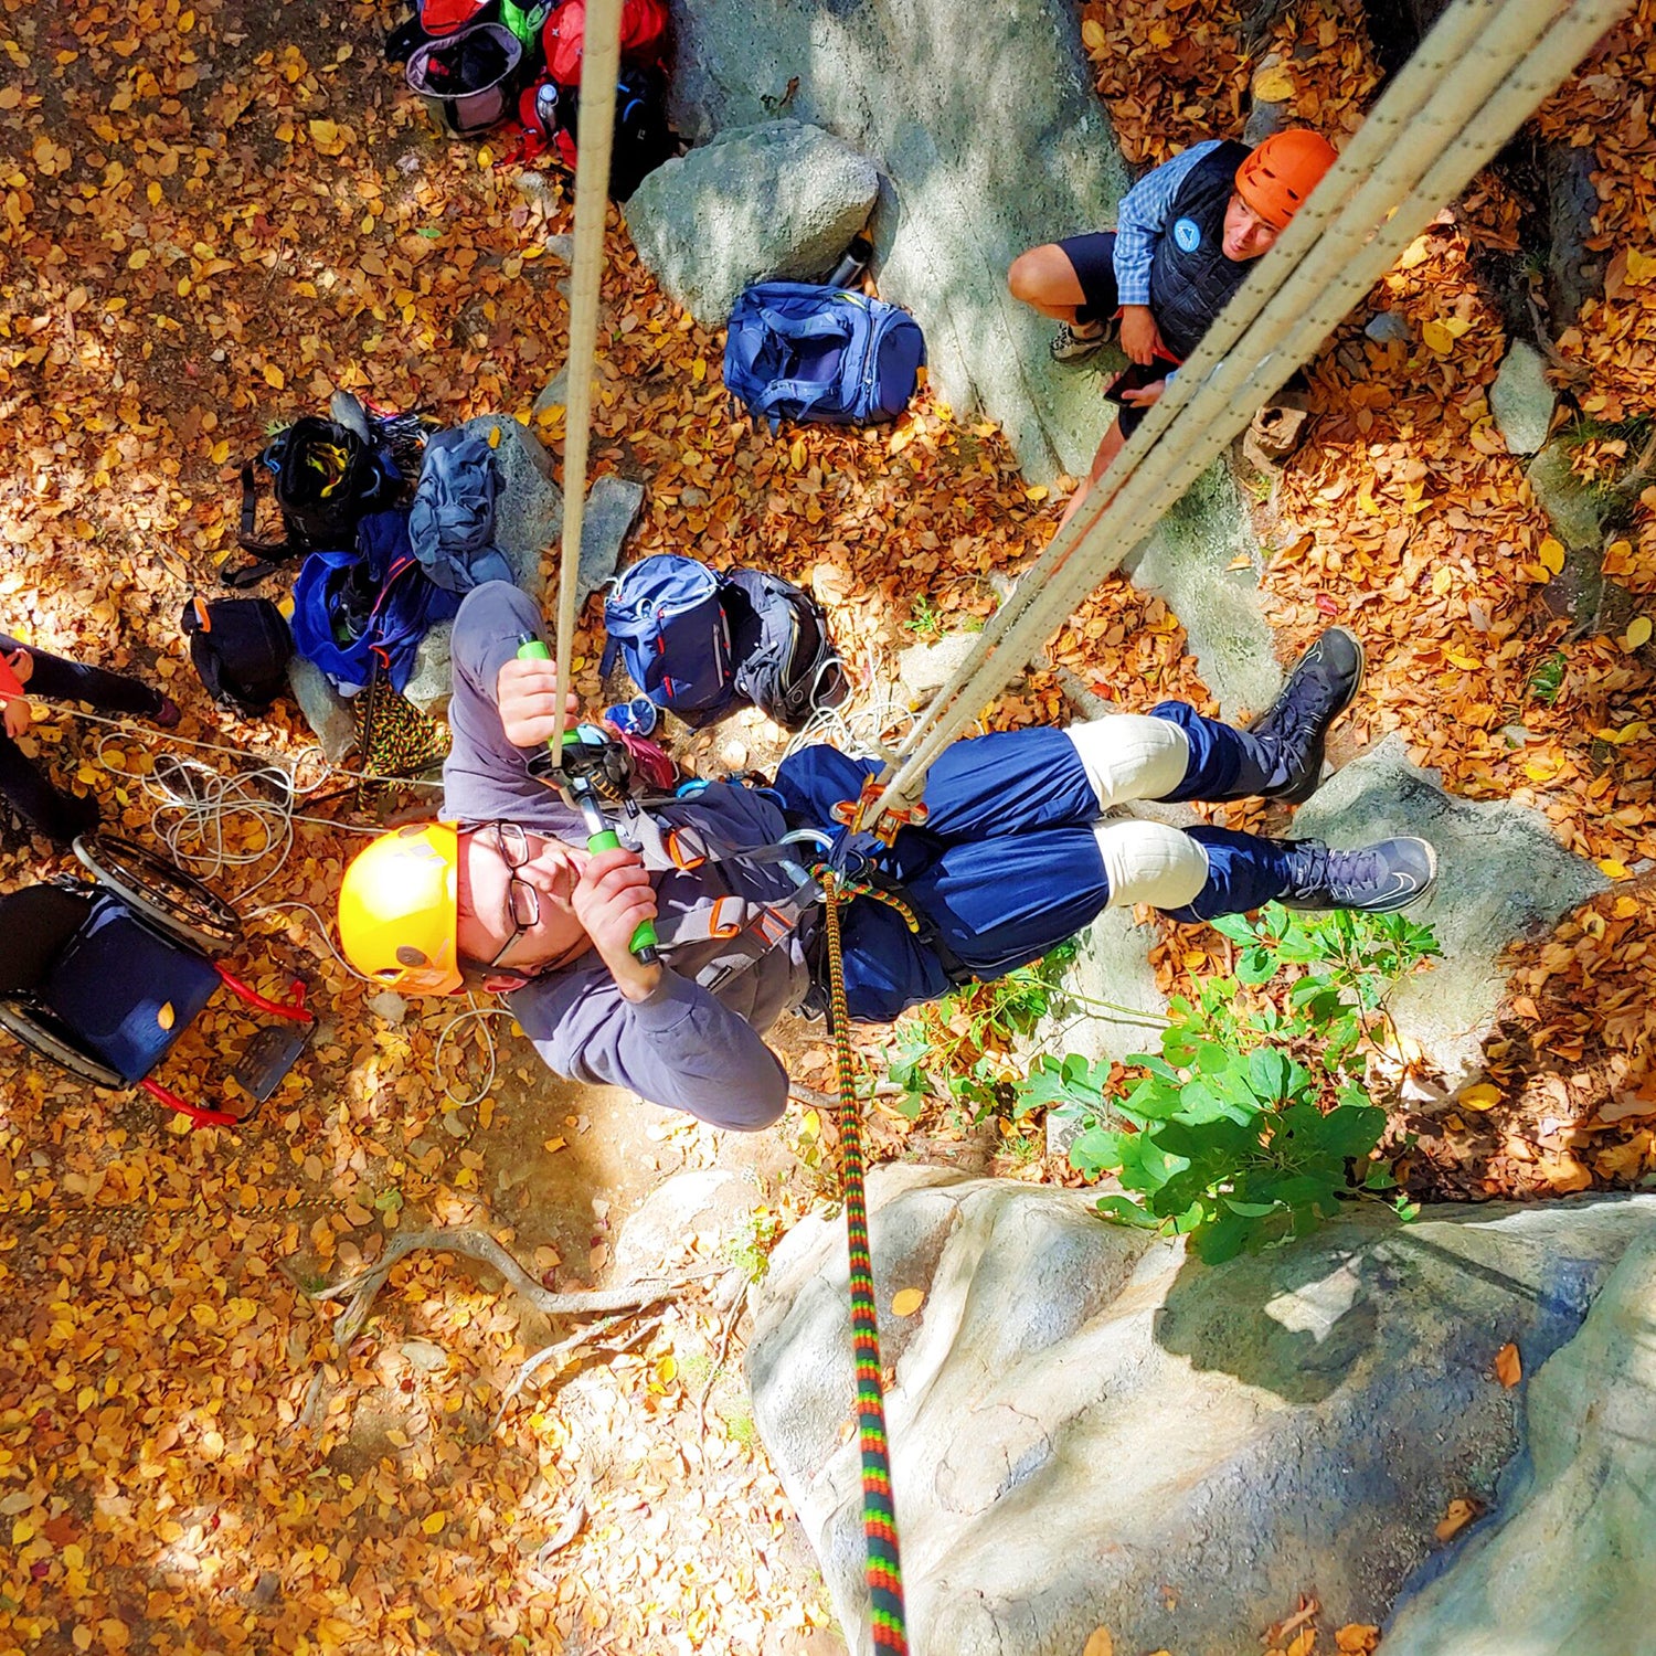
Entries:
[[730, 311], [725, 386], [770, 421], [873, 426], [914, 396], [926, 339], [896, 305], [808, 282], [760, 282]]

